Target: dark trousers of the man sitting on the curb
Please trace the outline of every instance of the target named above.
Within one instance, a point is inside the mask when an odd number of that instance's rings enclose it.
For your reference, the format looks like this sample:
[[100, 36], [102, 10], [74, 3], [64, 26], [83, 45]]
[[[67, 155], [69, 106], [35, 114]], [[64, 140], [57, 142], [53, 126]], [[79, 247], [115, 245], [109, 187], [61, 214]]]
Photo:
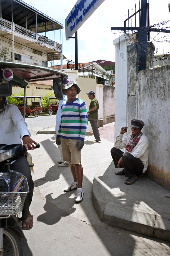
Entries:
[[117, 148], [112, 148], [110, 152], [113, 158], [113, 162], [115, 164], [115, 168], [118, 168], [118, 161], [120, 160], [123, 154], [123, 164], [120, 165], [120, 168], [124, 168], [125, 177], [131, 177], [134, 175], [139, 176], [142, 174], [144, 165], [139, 158], [136, 158], [135, 156], [128, 152], [123, 153], [122, 150]]

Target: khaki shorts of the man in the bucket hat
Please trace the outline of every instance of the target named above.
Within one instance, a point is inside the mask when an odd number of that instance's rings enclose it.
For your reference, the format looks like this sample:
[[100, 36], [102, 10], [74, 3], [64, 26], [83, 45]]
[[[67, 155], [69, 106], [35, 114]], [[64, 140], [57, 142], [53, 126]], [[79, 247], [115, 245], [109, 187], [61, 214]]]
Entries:
[[63, 152], [63, 161], [71, 164], [81, 164], [81, 151], [77, 149], [77, 139], [61, 138], [61, 147]]

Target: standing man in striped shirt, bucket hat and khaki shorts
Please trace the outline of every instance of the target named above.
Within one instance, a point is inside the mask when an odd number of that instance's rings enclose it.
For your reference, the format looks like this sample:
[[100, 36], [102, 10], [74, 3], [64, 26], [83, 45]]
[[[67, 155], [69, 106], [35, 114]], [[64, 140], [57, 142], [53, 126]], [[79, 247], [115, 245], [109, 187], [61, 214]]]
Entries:
[[83, 167], [81, 165], [81, 148], [87, 129], [87, 106], [83, 100], [76, 98], [81, 92], [74, 81], [69, 81], [63, 91], [67, 101], [62, 104], [61, 122], [56, 143], [61, 144], [63, 161], [70, 162], [74, 182], [64, 189], [65, 192], [77, 189], [76, 202], [83, 200]]

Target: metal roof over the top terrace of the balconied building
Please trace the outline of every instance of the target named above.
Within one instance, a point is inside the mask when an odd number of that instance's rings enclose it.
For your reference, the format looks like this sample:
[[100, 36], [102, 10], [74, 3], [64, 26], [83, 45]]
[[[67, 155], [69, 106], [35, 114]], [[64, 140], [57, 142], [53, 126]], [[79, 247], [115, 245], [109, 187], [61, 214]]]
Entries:
[[27, 13], [27, 29], [36, 32], [36, 16], [37, 16], [37, 33], [46, 31], [53, 31], [63, 27], [63, 24], [49, 17], [48, 15], [38, 11], [36, 8], [28, 5], [21, 0], [1, 0], [2, 18], [13, 22], [21, 27], [26, 27], [26, 13]]

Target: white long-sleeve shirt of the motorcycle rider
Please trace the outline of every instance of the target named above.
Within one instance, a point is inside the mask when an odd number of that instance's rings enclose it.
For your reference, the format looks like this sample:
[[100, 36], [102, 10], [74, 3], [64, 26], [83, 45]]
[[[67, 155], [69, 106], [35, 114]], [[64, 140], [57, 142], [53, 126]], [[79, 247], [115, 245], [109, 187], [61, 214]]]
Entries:
[[17, 106], [7, 104], [5, 110], [0, 112], [0, 144], [20, 144], [24, 135], [31, 136], [27, 123]]

